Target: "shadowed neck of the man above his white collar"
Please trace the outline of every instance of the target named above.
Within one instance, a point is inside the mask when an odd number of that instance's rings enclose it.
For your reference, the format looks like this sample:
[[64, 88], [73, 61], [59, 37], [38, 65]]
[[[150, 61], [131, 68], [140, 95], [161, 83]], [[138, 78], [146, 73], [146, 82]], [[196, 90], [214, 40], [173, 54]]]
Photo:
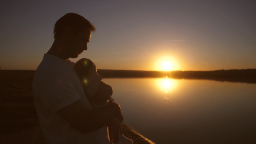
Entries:
[[61, 43], [60, 40], [54, 40], [53, 45], [51, 46], [47, 54], [56, 56], [66, 61], [69, 60], [69, 58], [66, 57], [65, 46], [63, 45], [63, 43]]

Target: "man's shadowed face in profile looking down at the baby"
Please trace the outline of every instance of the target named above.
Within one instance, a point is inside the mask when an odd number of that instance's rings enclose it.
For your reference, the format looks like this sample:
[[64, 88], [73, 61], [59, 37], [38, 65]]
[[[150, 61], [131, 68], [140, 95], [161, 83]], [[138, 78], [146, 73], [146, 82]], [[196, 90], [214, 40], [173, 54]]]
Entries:
[[79, 31], [69, 43], [67, 56], [77, 58], [84, 50], [87, 50], [87, 43], [90, 42], [91, 31], [82, 29]]

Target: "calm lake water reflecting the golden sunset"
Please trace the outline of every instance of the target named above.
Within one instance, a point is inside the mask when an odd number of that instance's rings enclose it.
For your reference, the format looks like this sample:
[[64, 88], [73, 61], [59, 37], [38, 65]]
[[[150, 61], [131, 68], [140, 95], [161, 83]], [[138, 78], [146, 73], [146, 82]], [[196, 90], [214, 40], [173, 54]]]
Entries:
[[156, 144], [256, 144], [256, 84], [103, 79], [125, 123]]

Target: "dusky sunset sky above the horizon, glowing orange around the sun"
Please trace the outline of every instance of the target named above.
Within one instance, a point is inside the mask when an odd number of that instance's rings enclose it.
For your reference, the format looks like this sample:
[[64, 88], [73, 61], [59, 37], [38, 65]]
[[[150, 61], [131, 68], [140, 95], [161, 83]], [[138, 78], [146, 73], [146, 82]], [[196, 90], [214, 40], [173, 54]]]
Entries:
[[[254, 0], [1, 0], [0, 67], [35, 70], [66, 13], [92, 22], [98, 69], [256, 69]], [[167, 63], [166, 63], [167, 62]]]

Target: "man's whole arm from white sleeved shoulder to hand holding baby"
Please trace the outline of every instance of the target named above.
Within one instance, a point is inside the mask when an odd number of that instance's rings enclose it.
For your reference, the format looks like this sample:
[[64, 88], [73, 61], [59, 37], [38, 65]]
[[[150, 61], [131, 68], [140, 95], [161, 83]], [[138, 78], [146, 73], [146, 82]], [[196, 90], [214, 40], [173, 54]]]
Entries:
[[76, 130], [88, 133], [103, 127], [121, 111], [118, 104], [89, 111], [68, 72], [53, 69], [40, 81], [38, 93], [42, 106], [59, 113]]

